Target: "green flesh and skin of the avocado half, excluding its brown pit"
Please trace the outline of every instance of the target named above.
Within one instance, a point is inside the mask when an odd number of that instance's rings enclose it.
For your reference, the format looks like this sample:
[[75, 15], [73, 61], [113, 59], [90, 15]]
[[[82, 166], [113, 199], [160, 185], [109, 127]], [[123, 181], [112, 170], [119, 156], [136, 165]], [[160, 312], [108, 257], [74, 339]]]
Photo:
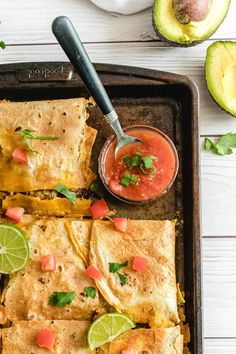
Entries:
[[156, 0], [153, 25], [157, 35], [174, 46], [189, 47], [208, 39], [224, 21], [231, 0], [212, 0], [208, 16], [203, 21], [181, 24], [175, 15], [172, 0]]

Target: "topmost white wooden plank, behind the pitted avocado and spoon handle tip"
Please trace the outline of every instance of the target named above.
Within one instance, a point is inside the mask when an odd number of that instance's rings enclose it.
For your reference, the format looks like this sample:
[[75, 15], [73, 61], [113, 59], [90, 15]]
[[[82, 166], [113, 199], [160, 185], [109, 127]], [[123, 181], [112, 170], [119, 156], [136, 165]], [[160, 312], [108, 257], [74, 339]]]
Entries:
[[[236, 0], [232, 0], [231, 10]], [[85, 42], [147, 41], [157, 39], [152, 9], [122, 16], [98, 9], [89, 0], [10, 0], [1, 4], [1, 35], [8, 44], [55, 43], [51, 22], [69, 16]], [[234, 38], [234, 11], [212, 38]]]

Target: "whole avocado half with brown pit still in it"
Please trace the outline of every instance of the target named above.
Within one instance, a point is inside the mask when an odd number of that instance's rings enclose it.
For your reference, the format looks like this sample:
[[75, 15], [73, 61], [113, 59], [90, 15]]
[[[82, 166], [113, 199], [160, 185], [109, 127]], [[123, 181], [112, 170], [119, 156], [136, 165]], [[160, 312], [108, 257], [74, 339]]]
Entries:
[[156, 0], [157, 35], [174, 46], [193, 46], [208, 39], [224, 21], [230, 0]]

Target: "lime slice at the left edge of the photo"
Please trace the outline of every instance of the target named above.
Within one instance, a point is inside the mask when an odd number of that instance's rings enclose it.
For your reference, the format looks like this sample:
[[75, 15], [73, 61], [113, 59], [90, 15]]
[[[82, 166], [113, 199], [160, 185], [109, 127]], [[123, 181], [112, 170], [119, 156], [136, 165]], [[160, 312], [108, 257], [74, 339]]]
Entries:
[[17, 272], [28, 258], [29, 246], [23, 231], [14, 225], [0, 224], [0, 273]]

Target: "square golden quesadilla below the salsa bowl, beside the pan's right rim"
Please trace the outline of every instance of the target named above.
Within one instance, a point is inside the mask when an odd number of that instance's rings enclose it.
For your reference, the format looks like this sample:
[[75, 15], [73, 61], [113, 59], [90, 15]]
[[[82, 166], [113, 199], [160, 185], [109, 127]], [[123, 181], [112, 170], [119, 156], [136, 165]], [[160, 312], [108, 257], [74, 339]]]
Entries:
[[[136, 256], [148, 262], [144, 272], [133, 269]], [[109, 263], [122, 268], [114, 272]], [[123, 233], [116, 231], [112, 222], [94, 221], [90, 264], [102, 274], [102, 279], [96, 280], [98, 289], [118, 312], [151, 327], [171, 327], [179, 322], [173, 222], [129, 220]]]

